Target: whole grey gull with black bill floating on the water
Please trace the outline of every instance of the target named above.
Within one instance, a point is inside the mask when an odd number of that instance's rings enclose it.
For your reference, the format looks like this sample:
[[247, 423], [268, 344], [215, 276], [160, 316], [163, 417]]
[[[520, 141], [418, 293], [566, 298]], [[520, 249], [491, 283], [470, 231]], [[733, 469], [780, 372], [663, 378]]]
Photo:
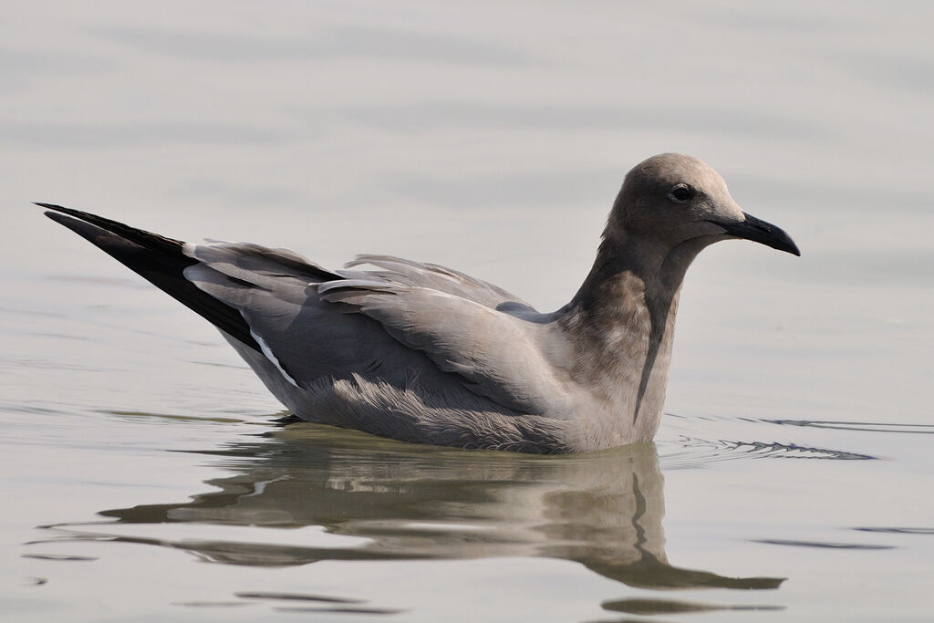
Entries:
[[358, 255], [330, 270], [286, 248], [185, 243], [37, 205], [214, 324], [299, 418], [543, 454], [652, 440], [681, 285], [701, 249], [743, 238], [800, 255], [714, 169], [677, 153], [627, 174], [593, 267], [551, 313], [437, 264]]

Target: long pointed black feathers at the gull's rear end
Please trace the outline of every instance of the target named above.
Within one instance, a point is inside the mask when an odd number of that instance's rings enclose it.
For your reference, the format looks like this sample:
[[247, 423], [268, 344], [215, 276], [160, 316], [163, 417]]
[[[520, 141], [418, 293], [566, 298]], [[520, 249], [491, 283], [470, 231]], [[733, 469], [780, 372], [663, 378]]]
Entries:
[[199, 290], [185, 278], [184, 270], [199, 262], [182, 252], [184, 243], [180, 240], [150, 234], [116, 220], [62, 205], [36, 205], [52, 210], [45, 215], [101, 248], [224, 333], [262, 352], [250, 333], [247, 321], [237, 309]]

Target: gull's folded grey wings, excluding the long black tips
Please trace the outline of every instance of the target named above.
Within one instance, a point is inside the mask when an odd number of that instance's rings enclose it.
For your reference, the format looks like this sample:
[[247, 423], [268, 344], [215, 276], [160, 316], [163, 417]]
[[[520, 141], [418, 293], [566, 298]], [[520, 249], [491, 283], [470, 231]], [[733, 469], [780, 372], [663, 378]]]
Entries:
[[[189, 245], [186, 253], [199, 261], [186, 278], [238, 309], [296, 387], [324, 376], [363, 375], [399, 388], [417, 379], [439, 394], [467, 389], [503, 413], [565, 411], [568, 384], [543, 350], [548, 328], [497, 311], [497, 302], [521, 303], [485, 282], [385, 256], [365, 256], [383, 271], [334, 274], [255, 245]], [[469, 290], [479, 301], [447, 290]]]

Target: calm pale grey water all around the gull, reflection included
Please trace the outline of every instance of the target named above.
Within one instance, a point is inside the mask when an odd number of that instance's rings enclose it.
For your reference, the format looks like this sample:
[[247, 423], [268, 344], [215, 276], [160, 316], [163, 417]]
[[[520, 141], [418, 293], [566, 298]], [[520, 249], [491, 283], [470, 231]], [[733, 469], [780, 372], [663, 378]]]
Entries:
[[[6, 7], [4, 616], [934, 616], [932, 13]], [[282, 420], [202, 320], [28, 205], [553, 309], [666, 150], [803, 256], [705, 251], [657, 443], [557, 459]]]

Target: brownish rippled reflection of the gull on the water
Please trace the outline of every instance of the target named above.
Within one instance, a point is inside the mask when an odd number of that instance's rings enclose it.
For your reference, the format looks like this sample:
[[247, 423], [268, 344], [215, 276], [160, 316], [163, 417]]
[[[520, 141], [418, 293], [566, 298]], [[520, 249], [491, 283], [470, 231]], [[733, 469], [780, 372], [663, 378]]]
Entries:
[[640, 588], [777, 588], [782, 578], [674, 567], [665, 554], [663, 477], [652, 444], [563, 457], [414, 446], [292, 423], [206, 454], [233, 473], [190, 501], [103, 511], [120, 524], [304, 528], [366, 537], [346, 547], [134, 538], [215, 562], [321, 559], [575, 560]]

